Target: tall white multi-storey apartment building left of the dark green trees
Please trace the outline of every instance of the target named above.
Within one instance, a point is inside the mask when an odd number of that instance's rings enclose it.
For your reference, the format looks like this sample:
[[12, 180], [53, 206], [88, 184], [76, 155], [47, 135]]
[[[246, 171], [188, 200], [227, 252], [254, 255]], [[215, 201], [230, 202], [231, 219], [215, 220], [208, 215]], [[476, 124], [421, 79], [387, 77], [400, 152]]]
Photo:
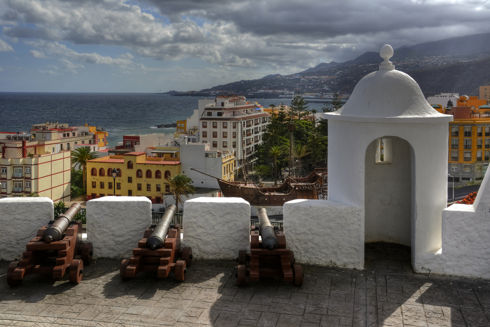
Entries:
[[244, 96], [219, 96], [214, 102], [203, 104], [200, 100], [197, 111], [199, 142], [209, 143], [211, 151], [235, 151], [236, 179], [244, 164], [255, 160], [256, 146], [262, 144], [262, 134], [271, 116], [257, 102], [246, 101]]

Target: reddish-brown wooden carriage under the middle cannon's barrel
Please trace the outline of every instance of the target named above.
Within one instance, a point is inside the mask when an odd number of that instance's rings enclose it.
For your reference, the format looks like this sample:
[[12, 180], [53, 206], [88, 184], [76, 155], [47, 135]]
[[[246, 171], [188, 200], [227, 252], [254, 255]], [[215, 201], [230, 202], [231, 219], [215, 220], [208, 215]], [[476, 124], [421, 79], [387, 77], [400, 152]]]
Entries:
[[[121, 278], [126, 280], [135, 277], [140, 271], [157, 273], [157, 277], [165, 278], [170, 273], [175, 274], [175, 279], [183, 281], [187, 267], [192, 264], [192, 249], [180, 248], [180, 225], [171, 225], [162, 249], [152, 250], [147, 248], [147, 238], [151, 236], [152, 228], [145, 230], [145, 234], [138, 247], [133, 249], [131, 259], [124, 259], [121, 263]], [[182, 260], [177, 260], [181, 258]]]

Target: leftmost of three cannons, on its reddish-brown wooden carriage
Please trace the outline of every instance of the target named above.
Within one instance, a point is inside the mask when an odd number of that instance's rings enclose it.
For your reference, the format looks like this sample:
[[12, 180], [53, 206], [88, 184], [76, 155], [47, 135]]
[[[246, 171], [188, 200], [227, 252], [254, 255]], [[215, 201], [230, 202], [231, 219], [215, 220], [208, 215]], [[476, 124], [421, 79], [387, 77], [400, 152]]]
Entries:
[[[78, 284], [83, 277], [83, 265], [92, 263], [92, 243], [82, 242], [82, 222], [73, 218], [81, 205], [73, 203], [56, 220], [49, 221], [37, 231], [25, 246], [22, 259], [10, 263], [7, 269], [7, 283], [19, 285], [30, 274], [50, 274], [53, 278], [65, 275], [68, 269], [69, 279]], [[79, 255], [81, 259], [75, 259]]]

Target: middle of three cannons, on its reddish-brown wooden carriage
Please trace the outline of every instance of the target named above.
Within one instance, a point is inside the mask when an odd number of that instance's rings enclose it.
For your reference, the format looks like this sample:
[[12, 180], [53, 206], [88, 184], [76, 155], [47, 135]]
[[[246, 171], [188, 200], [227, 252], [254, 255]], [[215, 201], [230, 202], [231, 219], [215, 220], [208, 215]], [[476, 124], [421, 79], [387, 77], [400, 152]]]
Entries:
[[187, 267], [192, 265], [192, 248], [180, 247], [180, 224], [172, 224], [176, 211], [177, 207], [170, 204], [160, 222], [145, 230], [131, 259], [121, 262], [121, 279], [144, 271], [156, 272], [157, 277], [168, 277], [173, 272], [177, 281], [184, 281]]

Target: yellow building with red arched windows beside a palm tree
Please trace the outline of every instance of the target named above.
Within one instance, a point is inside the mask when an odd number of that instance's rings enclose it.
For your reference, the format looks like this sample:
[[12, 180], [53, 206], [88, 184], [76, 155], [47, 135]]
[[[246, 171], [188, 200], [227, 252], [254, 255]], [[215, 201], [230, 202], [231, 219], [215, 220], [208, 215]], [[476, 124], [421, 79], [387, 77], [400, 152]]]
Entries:
[[[111, 173], [118, 170], [116, 185]], [[144, 196], [162, 203], [169, 194], [166, 177], [180, 174], [180, 161], [170, 157], [147, 157], [146, 152], [110, 155], [87, 162], [87, 200], [104, 196]]]

